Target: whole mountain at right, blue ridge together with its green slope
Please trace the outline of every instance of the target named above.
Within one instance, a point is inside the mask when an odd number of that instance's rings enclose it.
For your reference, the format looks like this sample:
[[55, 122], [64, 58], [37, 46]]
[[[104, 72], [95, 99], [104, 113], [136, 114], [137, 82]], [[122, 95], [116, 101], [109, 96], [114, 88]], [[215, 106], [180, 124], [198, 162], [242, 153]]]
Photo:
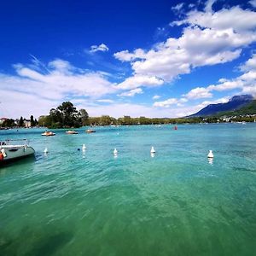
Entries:
[[229, 102], [210, 104], [189, 117], [204, 117], [220, 114], [252, 114], [256, 113], [256, 100], [251, 95], [233, 96]]

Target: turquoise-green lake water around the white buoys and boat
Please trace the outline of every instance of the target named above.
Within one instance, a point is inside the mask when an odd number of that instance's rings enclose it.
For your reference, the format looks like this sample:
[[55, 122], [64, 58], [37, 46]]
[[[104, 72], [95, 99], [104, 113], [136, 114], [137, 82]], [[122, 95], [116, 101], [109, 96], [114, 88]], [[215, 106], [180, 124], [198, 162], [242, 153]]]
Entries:
[[256, 252], [255, 124], [95, 130], [0, 131], [36, 150], [0, 168], [0, 255]]

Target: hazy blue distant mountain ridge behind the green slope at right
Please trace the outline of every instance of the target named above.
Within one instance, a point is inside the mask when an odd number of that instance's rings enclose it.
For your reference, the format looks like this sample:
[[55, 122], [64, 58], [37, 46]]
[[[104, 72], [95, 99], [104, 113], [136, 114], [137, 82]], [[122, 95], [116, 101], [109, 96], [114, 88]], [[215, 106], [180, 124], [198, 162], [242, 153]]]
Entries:
[[246, 107], [251, 102], [253, 102], [253, 96], [251, 95], [233, 96], [229, 102], [210, 104], [206, 108], [202, 108], [199, 112], [189, 115], [189, 117], [218, 115], [222, 112], [235, 111]]

